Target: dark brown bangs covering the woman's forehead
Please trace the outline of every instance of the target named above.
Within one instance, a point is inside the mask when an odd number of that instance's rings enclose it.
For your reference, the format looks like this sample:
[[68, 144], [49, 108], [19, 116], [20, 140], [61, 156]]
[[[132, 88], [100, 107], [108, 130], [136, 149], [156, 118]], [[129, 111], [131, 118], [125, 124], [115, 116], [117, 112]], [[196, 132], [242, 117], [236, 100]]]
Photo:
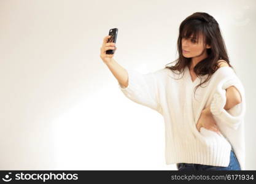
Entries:
[[188, 21], [181, 26], [180, 29], [181, 38], [194, 39], [196, 40], [196, 44], [200, 42], [200, 39], [203, 39], [203, 43], [205, 43], [204, 27], [201, 25], [201, 23], [198, 24], [193, 21]]

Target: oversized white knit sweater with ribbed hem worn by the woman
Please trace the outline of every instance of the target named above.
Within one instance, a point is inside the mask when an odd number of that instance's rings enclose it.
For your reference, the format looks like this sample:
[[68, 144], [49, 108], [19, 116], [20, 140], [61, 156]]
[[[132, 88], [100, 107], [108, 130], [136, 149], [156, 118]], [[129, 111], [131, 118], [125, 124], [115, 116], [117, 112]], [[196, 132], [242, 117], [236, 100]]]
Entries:
[[[235, 152], [241, 170], [244, 170], [244, 114], [246, 111], [245, 91], [236, 73], [229, 66], [220, 67], [211, 79], [196, 89], [200, 78], [192, 82], [188, 67], [184, 75], [170, 69], [141, 74], [127, 69], [128, 86], [118, 87], [131, 101], [156, 110], [165, 120], [166, 164], [193, 163], [227, 167], [230, 150]], [[202, 77], [202, 81], [207, 75]], [[207, 85], [207, 86], [206, 86]], [[226, 104], [226, 90], [235, 86], [241, 94], [241, 103], [230, 110]], [[201, 111], [211, 105], [212, 115], [222, 133], [196, 129]]]

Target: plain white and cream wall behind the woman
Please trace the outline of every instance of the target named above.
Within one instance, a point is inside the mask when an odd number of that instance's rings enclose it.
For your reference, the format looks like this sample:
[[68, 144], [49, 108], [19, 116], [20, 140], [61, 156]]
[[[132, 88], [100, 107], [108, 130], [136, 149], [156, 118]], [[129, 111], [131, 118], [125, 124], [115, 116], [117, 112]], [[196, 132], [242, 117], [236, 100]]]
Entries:
[[0, 0], [0, 169], [176, 170], [163, 117], [125, 98], [99, 54], [118, 28], [115, 60], [157, 71], [177, 58], [194, 12], [219, 22], [246, 90], [246, 169], [256, 169], [255, 2]]

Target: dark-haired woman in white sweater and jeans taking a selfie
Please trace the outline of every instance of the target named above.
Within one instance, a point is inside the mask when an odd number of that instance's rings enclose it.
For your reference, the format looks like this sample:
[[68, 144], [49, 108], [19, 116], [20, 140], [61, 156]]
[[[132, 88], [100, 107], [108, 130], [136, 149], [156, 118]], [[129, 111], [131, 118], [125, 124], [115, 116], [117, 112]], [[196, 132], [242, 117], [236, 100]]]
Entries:
[[107, 39], [100, 57], [120, 90], [164, 117], [166, 164], [177, 164], [180, 171], [244, 168], [244, 88], [211, 15], [196, 12], [185, 18], [176, 64], [149, 74], [124, 69], [114, 54], [106, 55], [106, 50], [117, 50]]

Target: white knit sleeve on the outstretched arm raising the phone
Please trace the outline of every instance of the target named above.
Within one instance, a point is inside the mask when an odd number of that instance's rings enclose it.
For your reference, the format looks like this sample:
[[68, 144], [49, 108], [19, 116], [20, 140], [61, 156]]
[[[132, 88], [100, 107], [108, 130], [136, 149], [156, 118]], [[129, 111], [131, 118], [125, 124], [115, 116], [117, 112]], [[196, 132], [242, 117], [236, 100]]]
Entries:
[[118, 87], [125, 96], [133, 102], [149, 107], [162, 114], [158, 98], [156, 72], [141, 74], [134, 69], [128, 72], [128, 86], [126, 88], [118, 83]]

